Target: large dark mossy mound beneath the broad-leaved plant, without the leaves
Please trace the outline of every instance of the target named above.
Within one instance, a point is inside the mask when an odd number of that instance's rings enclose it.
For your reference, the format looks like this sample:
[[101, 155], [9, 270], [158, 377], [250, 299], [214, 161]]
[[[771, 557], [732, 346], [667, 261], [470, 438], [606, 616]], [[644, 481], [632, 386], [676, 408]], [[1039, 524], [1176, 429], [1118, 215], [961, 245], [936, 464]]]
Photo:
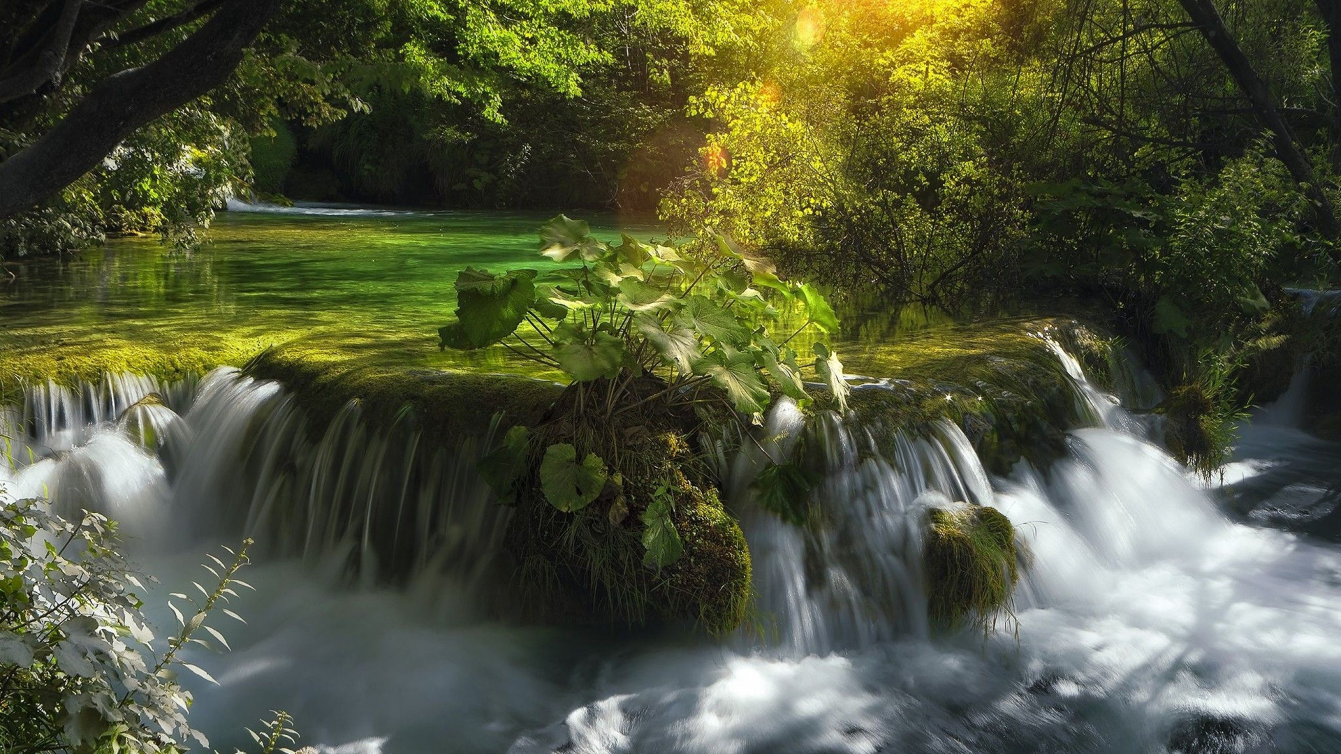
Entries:
[[[712, 635], [734, 631], [750, 604], [750, 547], [685, 439], [692, 415], [644, 415], [611, 429], [566, 411], [569, 396], [535, 429], [530, 482], [507, 537], [531, 616], [628, 625], [688, 620]], [[574, 443], [579, 455], [595, 452], [621, 482], [577, 513], [555, 510], [539, 488], [536, 456], [558, 441]], [[658, 490], [672, 500], [684, 545], [660, 572], [644, 565], [641, 518]]]

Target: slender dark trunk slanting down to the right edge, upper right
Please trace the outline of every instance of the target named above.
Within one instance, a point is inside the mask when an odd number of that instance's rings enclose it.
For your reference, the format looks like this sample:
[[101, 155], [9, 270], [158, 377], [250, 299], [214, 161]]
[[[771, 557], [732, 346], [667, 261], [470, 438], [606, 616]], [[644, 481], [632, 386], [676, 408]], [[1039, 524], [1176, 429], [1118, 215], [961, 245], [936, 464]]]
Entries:
[[[1198, 30], [1200, 30], [1202, 36], [1206, 38], [1211, 48], [1215, 50], [1215, 54], [1220, 56], [1224, 67], [1228, 68], [1230, 75], [1234, 76], [1235, 83], [1239, 85], [1239, 89], [1252, 105], [1252, 113], [1258, 121], [1271, 131], [1271, 142], [1275, 146], [1277, 158], [1290, 170], [1290, 176], [1294, 177], [1294, 181], [1299, 184], [1305, 196], [1313, 204], [1313, 215], [1318, 232], [1328, 240], [1337, 240], [1341, 236], [1341, 228], [1338, 228], [1332, 203], [1328, 200], [1326, 193], [1324, 193], [1322, 186], [1318, 185], [1317, 177], [1313, 173], [1313, 165], [1303, 152], [1299, 150], [1298, 142], [1290, 126], [1281, 117], [1281, 111], [1277, 109], [1266, 82], [1252, 68], [1252, 63], [1248, 62], [1239, 43], [1224, 28], [1224, 20], [1220, 19], [1220, 13], [1215, 9], [1212, 0], [1179, 0], [1179, 4], [1187, 11], [1187, 15], [1196, 24]], [[1336, 256], [1336, 250], [1333, 250], [1333, 256]]]

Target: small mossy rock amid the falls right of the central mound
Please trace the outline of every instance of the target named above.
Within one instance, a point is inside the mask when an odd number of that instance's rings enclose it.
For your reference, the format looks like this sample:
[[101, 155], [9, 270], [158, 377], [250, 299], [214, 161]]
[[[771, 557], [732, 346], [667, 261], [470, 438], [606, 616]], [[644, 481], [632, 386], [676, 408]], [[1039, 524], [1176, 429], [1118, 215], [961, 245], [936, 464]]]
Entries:
[[995, 624], [1010, 610], [1018, 555], [1015, 527], [996, 508], [931, 508], [923, 568], [932, 623], [947, 629]]

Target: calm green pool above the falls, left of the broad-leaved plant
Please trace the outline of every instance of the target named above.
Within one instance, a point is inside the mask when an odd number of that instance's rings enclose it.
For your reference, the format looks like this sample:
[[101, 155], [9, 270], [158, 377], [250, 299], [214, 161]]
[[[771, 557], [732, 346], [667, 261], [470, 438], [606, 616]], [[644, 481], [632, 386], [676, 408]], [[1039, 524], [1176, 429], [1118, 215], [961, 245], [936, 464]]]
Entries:
[[[507, 368], [506, 352], [440, 354], [467, 266], [548, 264], [546, 213], [300, 208], [224, 212], [190, 254], [114, 239], [64, 260], [11, 264], [0, 353], [28, 376], [182, 369], [300, 342], [333, 360]], [[589, 217], [598, 236], [661, 235], [646, 219]], [[0, 364], [3, 368], [4, 364]]]

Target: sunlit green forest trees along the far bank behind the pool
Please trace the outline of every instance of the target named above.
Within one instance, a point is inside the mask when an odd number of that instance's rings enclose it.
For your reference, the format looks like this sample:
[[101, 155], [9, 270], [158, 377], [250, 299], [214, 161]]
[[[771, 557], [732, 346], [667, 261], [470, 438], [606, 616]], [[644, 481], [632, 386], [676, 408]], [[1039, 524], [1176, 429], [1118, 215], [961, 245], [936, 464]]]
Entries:
[[[1285, 287], [1336, 274], [1330, 0], [3, 13], [5, 256], [142, 231], [189, 246], [229, 196], [656, 209], [675, 235], [727, 233], [849, 291], [951, 310], [1097, 297], [1184, 354], [1230, 347]], [[197, 71], [180, 103], [126, 89], [205, 43], [232, 67]], [[86, 123], [109, 121], [125, 134]], [[55, 144], [68, 165], [90, 133], [87, 172], [52, 188], [35, 157]], [[46, 188], [19, 191], [38, 174]]]

